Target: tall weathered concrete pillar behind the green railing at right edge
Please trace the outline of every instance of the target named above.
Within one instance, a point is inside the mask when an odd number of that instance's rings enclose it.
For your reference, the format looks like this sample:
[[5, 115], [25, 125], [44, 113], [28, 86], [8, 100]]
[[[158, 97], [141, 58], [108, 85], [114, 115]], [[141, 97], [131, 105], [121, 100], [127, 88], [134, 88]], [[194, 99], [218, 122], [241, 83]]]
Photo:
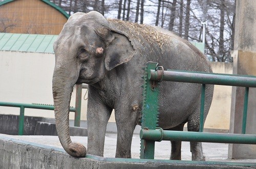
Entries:
[[[234, 32], [233, 72], [256, 76], [256, 1], [236, 3]], [[243, 100], [242, 87], [232, 88], [230, 133], [242, 132]], [[246, 134], [256, 134], [256, 89], [249, 89]], [[229, 158], [256, 158], [256, 145], [229, 144]]]

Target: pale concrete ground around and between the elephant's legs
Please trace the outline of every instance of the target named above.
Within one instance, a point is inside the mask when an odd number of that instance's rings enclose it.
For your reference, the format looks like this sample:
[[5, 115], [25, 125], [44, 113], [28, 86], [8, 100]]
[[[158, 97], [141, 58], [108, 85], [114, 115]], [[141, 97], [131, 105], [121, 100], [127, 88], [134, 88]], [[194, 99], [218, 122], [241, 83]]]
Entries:
[[[26, 142], [37, 143], [45, 146], [52, 146], [61, 148], [61, 144], [57, 136], [41, 136], [41, 135], [6, 135], [0, 134], [0, 136], [20, 139]], [[116, 152], [116, 133], [106, 133], [104, 157], [115, 157]], [[78, 142], [87, 147], [87, 137], [83, 136], [71, 136], [72, 142]], [[202, 143], [203, 152], [206, 157], [206, 161], [232, 161], [232, 162], [256, 162], [256, 159], [228, 159], [228, 144], [220, 143]], [[191, 153], [189, 150], [189, 142], [182, 142], [181, 150], [182, 160], [191, 160]], [[140, 154], [140, 138], [138, 134], [134, 134], [132, 140], [132, 158], [139, 158]], [[155, 146], [155, 159], [168, 159], [170, 156], [170, 142], [162, 141], [156, 142]]]

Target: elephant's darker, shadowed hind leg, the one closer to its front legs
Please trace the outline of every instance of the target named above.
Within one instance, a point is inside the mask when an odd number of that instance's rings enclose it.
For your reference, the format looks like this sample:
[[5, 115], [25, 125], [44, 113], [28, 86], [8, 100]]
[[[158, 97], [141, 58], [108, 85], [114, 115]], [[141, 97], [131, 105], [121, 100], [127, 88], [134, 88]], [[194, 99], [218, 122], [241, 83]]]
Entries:
[[[184, 124], [180, 124], [174, 128], [167, 130], [183, 131]], [[170, 141], [172, 150], [170, 152], [170, 160], [181, 160], [181, 141]]]

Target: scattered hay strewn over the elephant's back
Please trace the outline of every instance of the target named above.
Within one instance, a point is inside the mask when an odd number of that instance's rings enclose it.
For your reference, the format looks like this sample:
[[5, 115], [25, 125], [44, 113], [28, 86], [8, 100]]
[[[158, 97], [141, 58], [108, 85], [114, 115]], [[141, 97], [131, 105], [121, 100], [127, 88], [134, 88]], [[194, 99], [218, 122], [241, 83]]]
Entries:
[[139, 41], [143, 38], [151, 44], [157, 42], [160, 48], [170, 38], [168, 35], [157, 31], [150, 25], [132, 23], [118, 19], [108, 19], [108, 21], [114, 23], [118, 30], [128, 33], [131, 38]]

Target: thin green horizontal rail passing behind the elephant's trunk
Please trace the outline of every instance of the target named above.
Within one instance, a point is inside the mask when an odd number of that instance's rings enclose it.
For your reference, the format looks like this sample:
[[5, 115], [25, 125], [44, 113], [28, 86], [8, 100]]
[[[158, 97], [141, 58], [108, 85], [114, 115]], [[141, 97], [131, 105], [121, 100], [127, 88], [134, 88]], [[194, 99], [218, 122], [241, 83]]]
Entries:
[[[54, 110], [54, 106], [52, 106], [52, 105], [41, 105], [41, 104], [0, 102], [0, 106], [7, 106], [7, 107], [21, 107], [21, 106], [24, 106], [24, 108]], [[75, 110], [76, 110], [76, 108], [70, 107], [70, 111], [75, 112]]]

